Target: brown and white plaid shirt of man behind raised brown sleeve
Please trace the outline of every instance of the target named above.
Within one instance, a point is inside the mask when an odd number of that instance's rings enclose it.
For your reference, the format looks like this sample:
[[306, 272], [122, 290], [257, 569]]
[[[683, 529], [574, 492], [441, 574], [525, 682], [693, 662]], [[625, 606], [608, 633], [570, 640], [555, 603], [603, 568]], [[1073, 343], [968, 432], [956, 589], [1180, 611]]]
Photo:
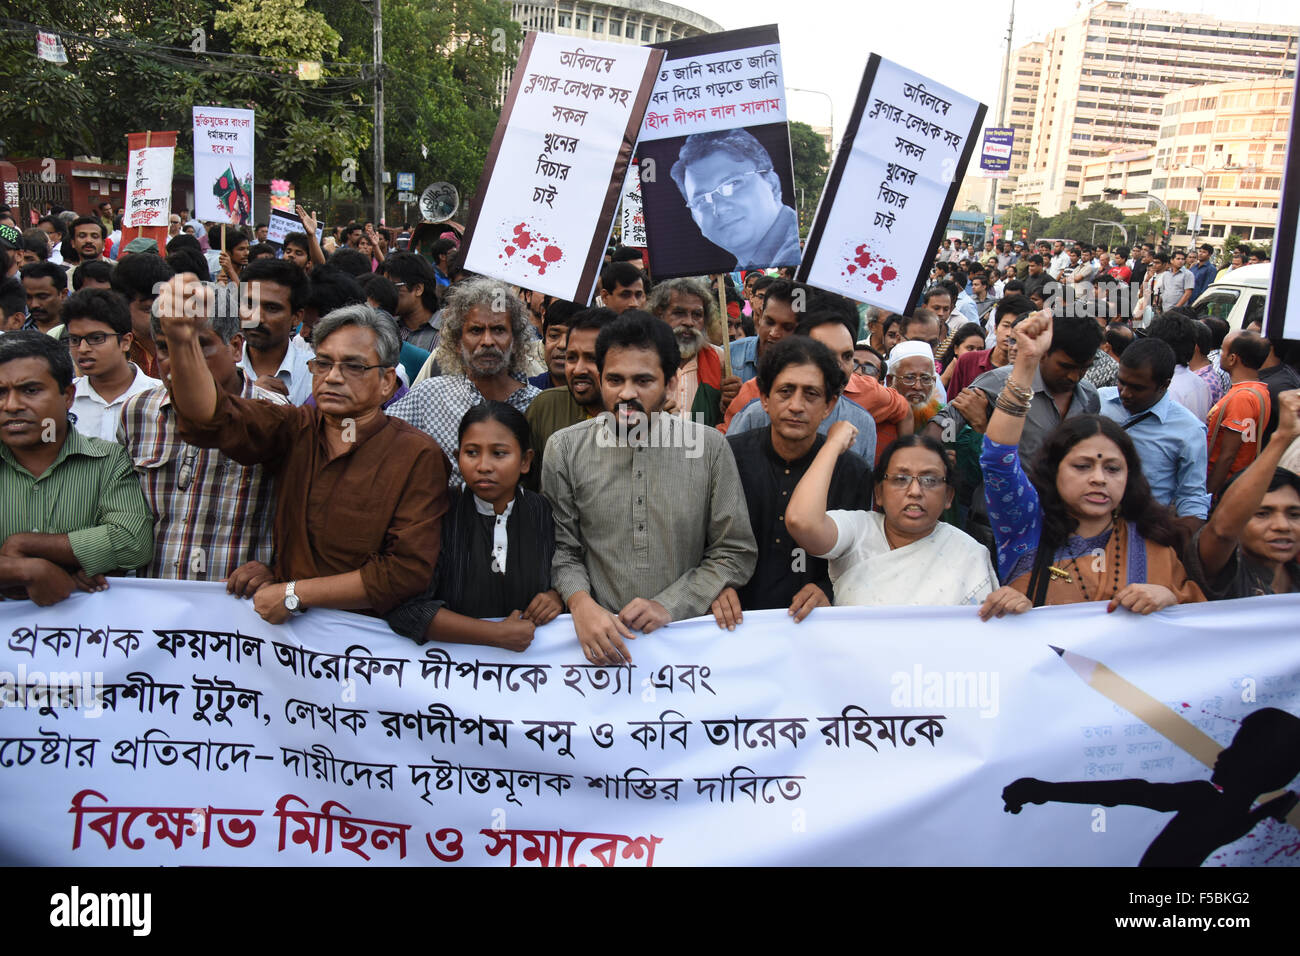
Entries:
[[[240, 397], [285, 405], [247, 375]], [[270, 564], [276, 493], [260, 464], [181, 440], [165, 388], [131, 397], [117, 425], [153, 512], [153, 561], [146, 578], [220, 581], [250, 561]]]

